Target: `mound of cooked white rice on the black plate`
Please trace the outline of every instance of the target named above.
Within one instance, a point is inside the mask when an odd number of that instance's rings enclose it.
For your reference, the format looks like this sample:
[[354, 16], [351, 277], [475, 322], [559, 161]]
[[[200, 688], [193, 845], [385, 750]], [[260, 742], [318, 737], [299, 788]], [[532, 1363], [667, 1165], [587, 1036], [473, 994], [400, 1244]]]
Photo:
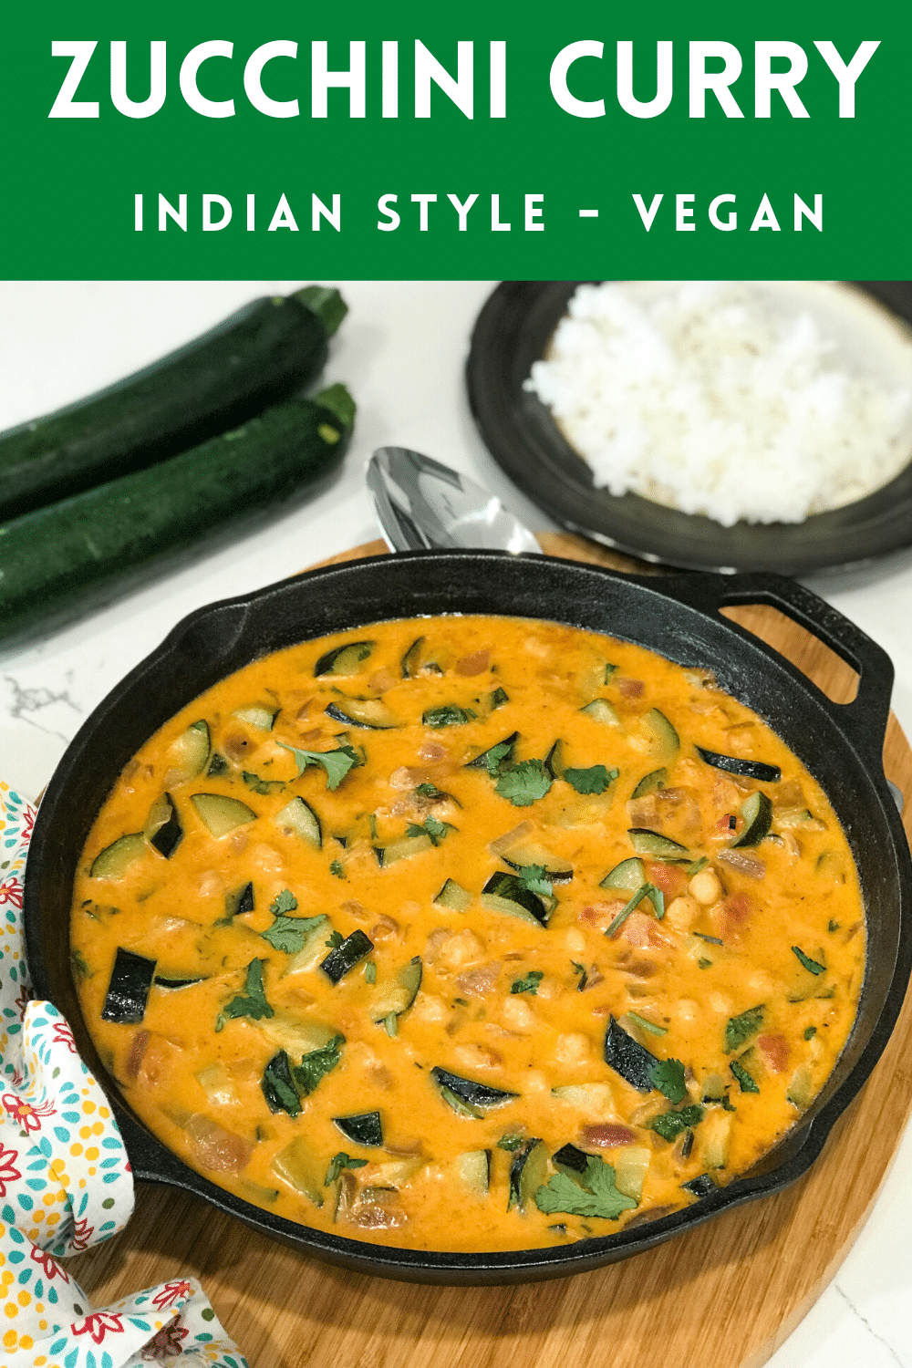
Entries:
[[835, 283], [580, 286], [526, 387], [598, 487], [726, 527], [800, 523], [912, 458], [912, 342]]

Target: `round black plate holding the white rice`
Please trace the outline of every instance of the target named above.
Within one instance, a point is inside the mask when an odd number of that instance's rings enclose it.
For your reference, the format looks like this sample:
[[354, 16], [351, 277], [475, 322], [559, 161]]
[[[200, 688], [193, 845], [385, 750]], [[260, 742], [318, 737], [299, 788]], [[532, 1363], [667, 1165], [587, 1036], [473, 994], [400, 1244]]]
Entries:
[[[580, 280], [505, 280], [477, 317], [469, 404], [495, 461], [562, 527], [647, 561], [697, 570], [808, 575], [864, 565], [912, 546], [912, 464], [875, 494], [804, 523], [736, 523], [678, 513], [639, 494], [596, 490], [550, 410], [525, 390]], [[912, 323], [912, 282], [856, 280]]]

